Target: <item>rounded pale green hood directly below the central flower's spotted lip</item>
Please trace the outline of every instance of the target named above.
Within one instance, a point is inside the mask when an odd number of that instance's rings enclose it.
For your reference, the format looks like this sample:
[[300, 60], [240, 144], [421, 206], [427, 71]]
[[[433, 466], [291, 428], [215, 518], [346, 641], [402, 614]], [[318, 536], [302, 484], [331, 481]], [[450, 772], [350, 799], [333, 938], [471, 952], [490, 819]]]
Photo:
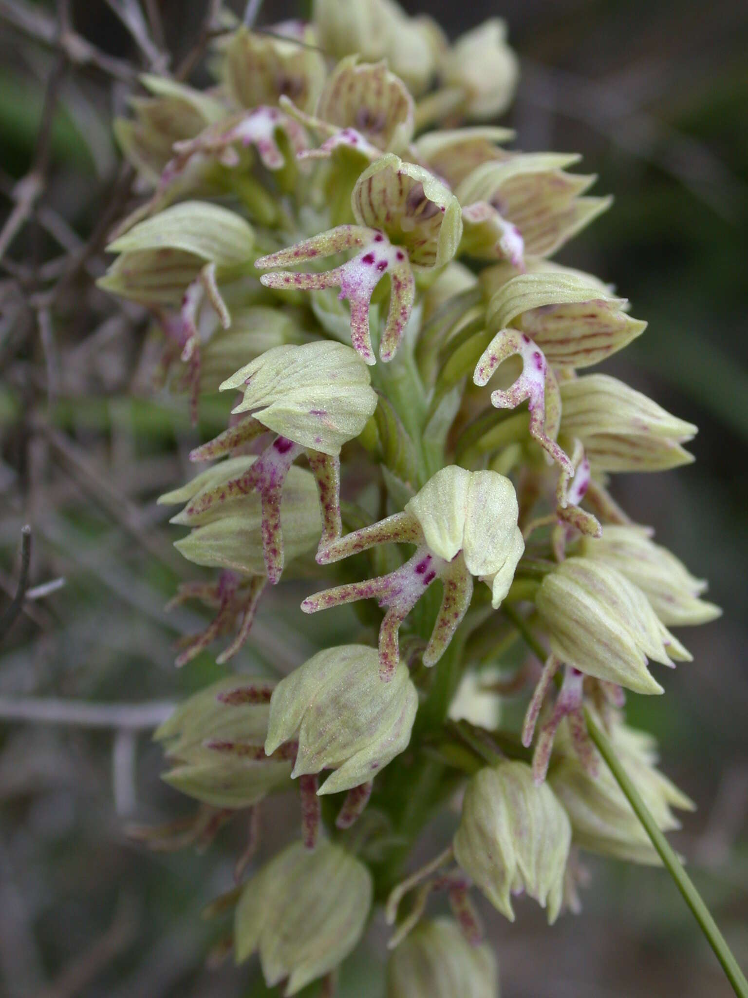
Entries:
[[277, 685], [265, 751], [298, 740], [292, 776], [334, 769], [319, 793], [372, 779], [407, 748], [418, 695], [407, 666], [382, 683], [379, 656], [365, 645], [318, 652]]

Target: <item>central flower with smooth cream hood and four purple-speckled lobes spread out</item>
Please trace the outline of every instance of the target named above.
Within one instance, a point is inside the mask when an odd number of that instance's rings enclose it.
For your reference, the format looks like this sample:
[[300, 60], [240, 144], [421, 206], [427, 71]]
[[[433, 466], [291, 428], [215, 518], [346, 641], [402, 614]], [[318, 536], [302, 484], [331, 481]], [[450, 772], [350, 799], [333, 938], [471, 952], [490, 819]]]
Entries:
[[444, 586], [442, 606], [423, 655], [424, 665], [433, 666], [470, 606], [473, 576], [490, 587], [494, 608], [509, 592], [525, 549], [517, 519], [517, 496], [508, 478], [495, 471], [442, 468], [402, 513], [325, 545], [317, 561], [328, 564], [386, 543], [414, 544], [415, 554], [388, 575], [310, 596], [301, 609], [311, 614], [355, 600], [377, 599], [387, 610], [379, 632], [380, 673], [390, 680], [400, 661], [400, 625], [439, 578]]

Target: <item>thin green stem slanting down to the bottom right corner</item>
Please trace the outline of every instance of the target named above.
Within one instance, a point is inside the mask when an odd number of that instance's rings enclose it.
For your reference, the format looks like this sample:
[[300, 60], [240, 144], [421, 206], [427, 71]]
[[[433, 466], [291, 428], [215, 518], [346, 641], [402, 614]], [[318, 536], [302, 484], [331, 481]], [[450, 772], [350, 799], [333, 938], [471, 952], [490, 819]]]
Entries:
[[[541, 645], [538, 641], [523, 618], [512, 607], [503, 606], [502, 610], [517, 627], [527, 645], [538, 656], [541, 662], [545, 662], [547, 653], [543, 645]], [[631, 778], [616, 756], [615, 750], [610, 744], [610, 740], [607, 735], [605, 735], [602, 729], [594, 721], [589, 711], [586, 709], [584, 712], [584, 719], [586, 721], [589, 738], [592, 740], [600, 755], [605, 760], [610, 772], [615, 778], [616, 783], [621, 788], [626, 800], [628, 800], [631, 805], [631, 809], [641, 822], [641, 826], [649, 836], [649, 840], [652, 845], [657, 850], [657, 853], [664, 863], [665, 868], [675, 881], [675, 886], [683, 895], [686, 904], [693, 912], [696, 921], [701, 927], [701, 931], [706, 936], [707, 942], [714, 950], [717, 959], [722, 965], [722, 969], [724, 970], [728, 981], [732, 985], [735, 994], [738, 998], [748, 998], [748, 981], [746, 981], [745, 975], [738, 966], [737, 960], [732, 955], [730, 947], [727, 945], [724, 936], [719, 931], [717, 923], [709, 913], [709, 909], [704, 904], [701, 895], [696, 890], [693, 881], [683, 869], [683, 866], [670, 846], [670, 843], [657, 827], [657, 822], [652, 817], [649, 808], [639, 796], [638, 790], [633, 785]]]

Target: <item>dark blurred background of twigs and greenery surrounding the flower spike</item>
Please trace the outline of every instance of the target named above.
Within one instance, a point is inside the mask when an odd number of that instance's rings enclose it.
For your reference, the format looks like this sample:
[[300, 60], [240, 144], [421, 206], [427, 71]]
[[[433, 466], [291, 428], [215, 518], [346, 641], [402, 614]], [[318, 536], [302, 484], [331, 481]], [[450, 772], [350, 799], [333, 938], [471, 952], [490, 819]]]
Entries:
[[[186, 810], [159, 779], [150, 731], [166, 703], [219, 674], [208, 655], [175, 671], [174, 642], [200, 621], [163, 611], [188, 566], [153, 500], [186, 476], [196, 431], [179, 400], [149, 394], [140, 310], [91, 288], [127, 193], [112, 117], [134, 71], [158, 69], [162, 44], [172, 67], [197, 61], [207, 4], [144, 0], [163, 27], [156, 47], [128, 30], [127, 2], [61, 6], [77, 33], [68, 58], [54, 5], [0, 0], [0, 615], [21, 571], [20, 528], [33, 531], [28, 598], [0, 636], [0, 994], [253, 998], [267, 993], [254, 964], [204, 969], [219, 933], [199, 918], [230, 885], [241, 829], [202, 855], [148, 852], [125, 835], [134, 819]], [[630, 697], [628, 716], [656, 734], [663, 768], [698, 804], [673, 841], [745, 966], [748, 5], [405, 6], [452, 37], [506, 18], [522, 59], [506, 120], [517, 148], [579, 152], [599, 175], [593, 193], [615, 196], [560, 255], [615, 282], [649, 320], [603, 369], [700, 427], [695, 464], [615, 480], [624, 507], [710, 580], [724, 608], [680, 635], [694, 662], [668, 675], [667, 696]], [[299, 13], [303, 4], [268, 0], [259, 18]], [[203, 419], [203, 435], [217, 432], [223, 412]], [[265, 601], [242, 668], [286, 672], [307, 653], [300, 615], [266, 623], [276, 601]], [[293, 804], [273, 802], [265, 821], [290, 835]], [[588, 865], [583, 912], [553, 929], [532, 905], [519, 904], [514, 925], [482, 909], [505, 998], [731, 994], [663, 871]], [[385, 937], [377, 922], [346, 965], [343, 995], [381, 995]]]

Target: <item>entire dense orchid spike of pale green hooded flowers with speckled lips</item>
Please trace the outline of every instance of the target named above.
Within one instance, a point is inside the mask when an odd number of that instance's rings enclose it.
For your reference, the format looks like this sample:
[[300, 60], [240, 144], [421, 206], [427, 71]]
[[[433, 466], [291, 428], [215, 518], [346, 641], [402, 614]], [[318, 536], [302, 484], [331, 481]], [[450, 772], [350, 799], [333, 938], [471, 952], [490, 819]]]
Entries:
[[[314, 651], [208, 686], [157, 738], [199, 802], [181, 841], [297, 789], [300, 831], [232, 895], [236, 960], [258, 952], [269, 986], [331, 993], [389, 892], [390, 998], [495, 998], [473, 895], [510, 920], [526, 895], [554, 922], [577, 907], [577, 849], [656, 861], [590, 712], [662, 829], [691, 806], [625, 726], [624, 692], [662, 693], [653, 665], [690, 660], [669, 629], [719, 610], [609, 489], [688, 463], [696, 428], [587, 370], [646, 323], [552, 259], [609, 199], [578, 157], [516, 151], [493, 124], [518, 77], [503, 22], [451, 43], [394, 0], [312, 7], [227, 26], [206, 90], [145, 77], [117, 123], [149, 193], [100, 284], [145, 307], [195, 422], [225, 398], [225, 429], [160, 499], [203, 570], [174, 602], [212, 614], [178, 663], [220, 642], [238, 664], [268, 587], [296, 603], [265, 627], [293, 616]], [[301, 611], [338, 614], [345, 638], [315, 645]], [[450, 721], [521, 631], [542, 669], [497, 689], [525, 698], [523, 731]], [[455, 791], [446, 850], [406, 877]], [[441, 889], [454, 918], [422, 917]]]

